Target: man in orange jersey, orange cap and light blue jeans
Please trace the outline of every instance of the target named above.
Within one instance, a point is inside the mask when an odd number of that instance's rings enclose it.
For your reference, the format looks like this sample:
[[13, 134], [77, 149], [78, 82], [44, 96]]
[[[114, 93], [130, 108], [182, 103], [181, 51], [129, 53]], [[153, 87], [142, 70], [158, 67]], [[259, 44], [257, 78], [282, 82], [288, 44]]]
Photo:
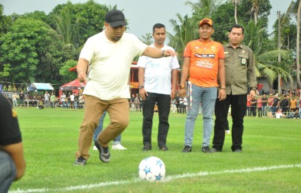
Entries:
[[[188, 114], [185, 122], [183, 153], [191, 152], [195, 119], [202, 101], [203, 107], [203, 144], [202, 151], [211, 153], [210, 136], [213, 130], [215, 100], [226, 99], [224, 48], [219, 42], [210, 39], [213, 22], [204, 18], [199, 23], [200, 39], [186, 45], [179, 94], [184, 97], [188, 91]], [[221, 87], [217, 89], [217, 75]], [[186, 79], [189, 77], [188, 83]], [[217, 94], [218, 93], [218, 94]]]

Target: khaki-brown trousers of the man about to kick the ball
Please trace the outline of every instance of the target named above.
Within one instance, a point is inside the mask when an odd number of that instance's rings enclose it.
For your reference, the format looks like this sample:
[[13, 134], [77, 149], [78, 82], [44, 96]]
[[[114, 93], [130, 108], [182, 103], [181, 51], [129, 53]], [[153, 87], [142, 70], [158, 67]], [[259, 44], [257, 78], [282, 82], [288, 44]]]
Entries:
[[114, 140], [128, 127], [130, 118], [128, 99], [104, 101], [97, 97], [86, 95], [84, 120], [80, 126], [78, 151], [75, 157], [88, 159], [90, 156], [88, 151], [93, 140], [93, 133], [104, 110], [107, 110], [110, 116], [110, 124], [99, 133], [97, 140], [101, 146], [107, 147], [111, 140]]

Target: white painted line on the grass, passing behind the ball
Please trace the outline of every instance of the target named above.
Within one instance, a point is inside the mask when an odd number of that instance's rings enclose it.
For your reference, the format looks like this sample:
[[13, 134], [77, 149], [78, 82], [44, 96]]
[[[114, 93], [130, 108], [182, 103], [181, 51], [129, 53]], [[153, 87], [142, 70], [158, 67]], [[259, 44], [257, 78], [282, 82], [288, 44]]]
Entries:
[[[258, 168], [245, 168], [240, 170], [224, 170], [219, 172], [197, 172], [197, 173], [186, 173], [184, 175], [173, 175], [166, 177], [163, 181], [171, 181], [173, 179], [181, 179], [181, 178], [189, 178], [189, 177], [200, 177], [206, 175], [220, 175], [220, 174], [228, 174], [228, 173], [243, 173], [243, 172], [257, 172], [257, 171], [266, 171], [266, 170], [278, 170], [284, 168], [301, 168], [301, 164], [292, 164], [292, 165], [280, 165], [280, 166], [269, 166], [269, 167], [258, 167]], [[102, 182], [102, 183], [95, 183], [95, 184], [87, 184], [87, 185], [76, 185], [70, 186], [67, 188], [41, 188], [41, 189], [28, 189], [28, 190], [14, 190], [10, 191], [10, 193], [27, 193], [27, 192], [67, 192], [73, 190], [88, 190], [92, 188], [99, 188], [108, 185], [121, 185], [126, 183], [135, 183], [138, 181], [142, 181], [139, 178], [135, 178], [132, 180], [125, 180], [125, 181], [109, 181], [109, 182]]]

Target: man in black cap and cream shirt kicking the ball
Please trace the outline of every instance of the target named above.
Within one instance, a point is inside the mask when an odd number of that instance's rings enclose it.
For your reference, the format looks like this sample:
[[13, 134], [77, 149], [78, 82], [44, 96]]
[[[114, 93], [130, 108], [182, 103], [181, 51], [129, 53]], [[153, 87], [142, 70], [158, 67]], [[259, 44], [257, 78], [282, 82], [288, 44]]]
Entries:
[[110, 161], [108, 144], [119, 136], [129, 123], [129, 77], [134, 57], [147, 55], [159, 58], [176, 55], [171, 50], [162, 51], [148, 47], [136, 36], [125, 33], [125, 25], [127, 23], [123, 12], [107, 12], [104, 23], [106, 29], [88, 38], [80, 53], [76, 68], [77, 79], [80, 82], [86, 81], [83, 93], [85, 110], [75, 164], [86, 164], [90, 156], [88, 151], [93, 141], [93, 133], [104, 110], [110, 115], [110, 123], [99, 133], [95, 146], [99, 151], [99, 159], [102, 162]]

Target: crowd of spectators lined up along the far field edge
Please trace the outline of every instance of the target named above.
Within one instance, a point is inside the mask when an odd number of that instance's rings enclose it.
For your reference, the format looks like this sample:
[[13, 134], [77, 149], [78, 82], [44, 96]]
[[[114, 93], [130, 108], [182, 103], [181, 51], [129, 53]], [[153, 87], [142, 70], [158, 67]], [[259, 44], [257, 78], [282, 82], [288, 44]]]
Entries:
[[[253, 99], [248, 96], [245, 116], [269, 117], [269, 118], [301, 118], [299, 113], [301, 110], [300, 89], [282, 88], [281, 93], [275, 93], [274, 90], [266, 92], [262, 86], [258, 86], [256, 97]], [[260, 94], [262, 93], [262, 94]], [[32, 106], [38, 109], [44, 108], [70, 108], [84, 109], [84, 95], [81, 90], [79, 94], [76, 92], [62, 92], [60, 97], [56, 97], [53, 92], [45, 92], [45, 94], [30, 94], [24, 92], [8, 92], [3, 93], [4, 97], [10, 101], [13, 107]], [[47, 100], [45, 100], [47, 99]], [[173, 113], [186, 114], [187, 97], [179, 97], [171, 100], [171, 110]], [[143, 100], [139, 94], [132, 94], [129, 100], [130, 110], [132, 112], [143, 111]], [[158, 110], [154, 110], [158, 112]], [[199, 114], [202, 114], [202, 103], [200, 104]]]

